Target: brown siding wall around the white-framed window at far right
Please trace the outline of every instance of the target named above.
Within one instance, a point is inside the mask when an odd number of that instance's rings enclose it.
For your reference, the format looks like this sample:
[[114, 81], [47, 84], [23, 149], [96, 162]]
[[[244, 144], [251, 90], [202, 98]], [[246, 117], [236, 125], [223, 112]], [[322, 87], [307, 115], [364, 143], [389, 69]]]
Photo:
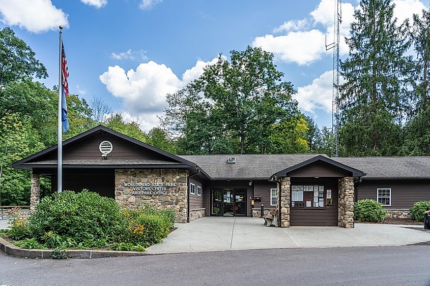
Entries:
[[410, 209], [417, 201], [430, 201], [430, 180], [366, 180], [364, 178], [357, 186], [357, 200], [377, 200], [378, 188], [391, 188], [391, 206], [384, 206], [387, 209]]

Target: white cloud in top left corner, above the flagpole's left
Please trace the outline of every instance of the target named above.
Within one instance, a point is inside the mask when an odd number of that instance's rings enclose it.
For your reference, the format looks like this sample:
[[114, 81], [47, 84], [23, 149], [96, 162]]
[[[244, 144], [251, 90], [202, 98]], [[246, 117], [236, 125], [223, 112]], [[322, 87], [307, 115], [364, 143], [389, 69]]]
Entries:
[[33, 33], [69, 26], [68, 15], [50, 0], [0, 0], [0, 14], [6, 25], [19, 26]]

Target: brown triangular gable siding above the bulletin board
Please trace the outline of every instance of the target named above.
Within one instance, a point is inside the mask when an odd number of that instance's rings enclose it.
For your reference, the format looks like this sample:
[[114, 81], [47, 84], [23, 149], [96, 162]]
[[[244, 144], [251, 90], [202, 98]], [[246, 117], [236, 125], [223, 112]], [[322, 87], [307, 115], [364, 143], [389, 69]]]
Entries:
[[306, 165], [302, 168], [299, 168], [297, 170], [291, 171], [288, 173], [288, 176], [290, 178], [296, 178], [296, 177], [347, 177], [351, 176], [351, 173], [343, 170], [341, 168], [338, 168], [336, 166], [330, 165], [326, 162], [317, 161], [312, 164]]

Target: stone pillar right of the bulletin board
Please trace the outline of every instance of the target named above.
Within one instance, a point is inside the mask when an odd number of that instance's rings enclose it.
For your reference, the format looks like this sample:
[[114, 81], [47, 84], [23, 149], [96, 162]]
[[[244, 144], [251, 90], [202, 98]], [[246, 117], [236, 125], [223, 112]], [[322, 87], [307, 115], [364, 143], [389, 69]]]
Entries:
[[338, 226], [354, 228], [354, 178], [339, 179], [339, 203], [337, 210]]

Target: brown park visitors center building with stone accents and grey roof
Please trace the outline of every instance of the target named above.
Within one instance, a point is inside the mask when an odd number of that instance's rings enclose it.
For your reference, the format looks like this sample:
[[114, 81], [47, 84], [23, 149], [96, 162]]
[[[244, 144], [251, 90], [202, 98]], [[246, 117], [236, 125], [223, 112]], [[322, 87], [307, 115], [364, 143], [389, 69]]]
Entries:
[[[56, 146], [16, 162], [55, 189]], [[354, 201], [374, 199], [405, 216], [430, 200], [430, 157], [329, 158], [319, 154], [173, 155], [104, 126], [63, 142], [63, 188], [89, 189], [128, 207], [173, 208], [178, 222], [203, 216], [260, 217], [280, 225], [354, 227]], [[407, 215], [406, 215], [407, 216]]]

